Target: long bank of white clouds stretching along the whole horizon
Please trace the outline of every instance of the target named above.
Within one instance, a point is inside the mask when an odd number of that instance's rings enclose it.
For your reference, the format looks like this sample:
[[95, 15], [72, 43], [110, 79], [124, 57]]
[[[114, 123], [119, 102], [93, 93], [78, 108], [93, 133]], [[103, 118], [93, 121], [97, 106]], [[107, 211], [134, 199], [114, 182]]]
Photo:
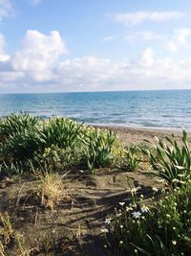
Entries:
[[[1, 56], [6, 54], [0, 38]], [[95, 56], [60, 60], [66, 52], [58, 32], [27, 32], [22, 49], [0, 61], [0, 87], [11, 92], [191, 88], [191, 58], [158, 58], [148, 47], [126, 61]]]

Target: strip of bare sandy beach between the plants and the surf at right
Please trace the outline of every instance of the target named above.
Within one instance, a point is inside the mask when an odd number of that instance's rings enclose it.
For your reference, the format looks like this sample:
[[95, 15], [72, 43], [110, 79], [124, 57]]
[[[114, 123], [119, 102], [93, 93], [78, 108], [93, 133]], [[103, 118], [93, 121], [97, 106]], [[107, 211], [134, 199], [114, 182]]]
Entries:
[[[160, 129], [160, 128], [129, 128], [120, 126], [94, 126], [97, 128], [112, 129], [117, 132], [119, 140], [124, 144], [139, 144], [144, 140], [149, 140], [152, 143], [156, 142], [155, 137], [165, 138], [170, 136], [172, 133], [175, 134], [178, 141], [181, 140], [182, 132], [177, 129]], [[191, 132], [188, 132], [189, 138], [191, 139]]]

